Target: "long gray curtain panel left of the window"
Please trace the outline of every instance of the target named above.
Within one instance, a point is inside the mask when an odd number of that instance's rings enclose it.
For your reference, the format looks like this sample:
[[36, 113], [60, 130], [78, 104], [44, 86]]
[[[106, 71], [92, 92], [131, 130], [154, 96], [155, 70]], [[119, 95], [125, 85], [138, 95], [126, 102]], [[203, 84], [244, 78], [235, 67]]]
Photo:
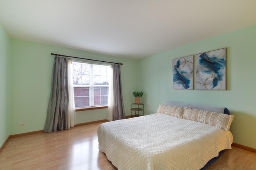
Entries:
[[44, 132], [68, 129], [68, 59], [54, 58], [51, 94], [48, 104]]

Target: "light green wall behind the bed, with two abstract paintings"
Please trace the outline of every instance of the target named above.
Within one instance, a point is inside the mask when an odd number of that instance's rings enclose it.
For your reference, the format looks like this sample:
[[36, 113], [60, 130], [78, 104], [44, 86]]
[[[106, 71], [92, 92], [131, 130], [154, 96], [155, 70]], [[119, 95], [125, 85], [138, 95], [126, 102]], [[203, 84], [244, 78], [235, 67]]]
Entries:
[[[172, 59], [227, 47], [227, 90], [172, 90]], [[234, 143], [256, 149], [256, 25], [138, 61], [146, 113], [168, 100], [227, 107]], [[195, 70], [195, 68], [194, 68]], [[195, 74], [194, 74], [195, 80]], [[195, 87], [195, 83], [194, 83]]]

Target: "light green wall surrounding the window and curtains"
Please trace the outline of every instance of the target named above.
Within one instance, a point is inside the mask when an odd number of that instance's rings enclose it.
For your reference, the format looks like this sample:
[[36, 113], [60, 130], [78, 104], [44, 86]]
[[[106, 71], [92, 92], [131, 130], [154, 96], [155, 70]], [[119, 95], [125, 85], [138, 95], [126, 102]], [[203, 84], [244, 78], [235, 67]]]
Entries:
[[[11, 135], [44, 129], [54, 56], [51, 53], [123, 63], [121, 66], [124, 109], [130, 115], [136, 84], [136, 61], [76, 49], [11, 39]], [[77, 123], [106, 119], [107, 109], [79, 111]], [[26, 126], [19, 127], [19, 123]]]

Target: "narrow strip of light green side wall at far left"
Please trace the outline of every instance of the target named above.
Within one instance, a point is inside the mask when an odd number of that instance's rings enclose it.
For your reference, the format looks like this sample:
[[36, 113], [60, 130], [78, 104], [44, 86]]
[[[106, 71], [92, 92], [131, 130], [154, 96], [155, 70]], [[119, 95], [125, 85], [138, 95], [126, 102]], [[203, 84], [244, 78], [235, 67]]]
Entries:
[[10, 37], [0, 24], [0, 147], [10, 135]]

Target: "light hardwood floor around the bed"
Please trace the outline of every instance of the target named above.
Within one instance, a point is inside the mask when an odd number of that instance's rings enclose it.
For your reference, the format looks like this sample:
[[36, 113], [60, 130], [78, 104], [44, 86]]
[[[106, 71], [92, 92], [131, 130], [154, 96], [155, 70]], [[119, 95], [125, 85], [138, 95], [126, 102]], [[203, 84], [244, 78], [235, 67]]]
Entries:
[[[100, 124], [10, 138], [0, 152], [0, 170], [116, 170], [98, 150]], [[232, 146], [207, 170], [256, 170], [256, 153]]]

